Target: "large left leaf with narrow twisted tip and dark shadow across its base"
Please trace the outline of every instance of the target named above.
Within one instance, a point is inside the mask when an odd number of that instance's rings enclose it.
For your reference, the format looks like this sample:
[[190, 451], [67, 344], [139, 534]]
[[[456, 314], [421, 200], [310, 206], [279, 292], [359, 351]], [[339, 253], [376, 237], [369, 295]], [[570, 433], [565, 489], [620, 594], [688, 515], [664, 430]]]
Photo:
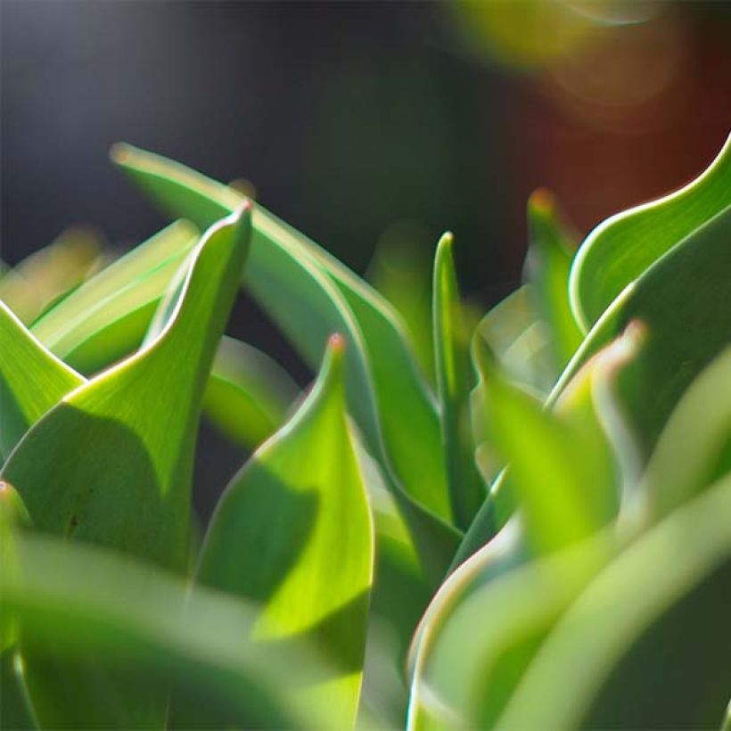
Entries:
[[63, 398], [14, 450], [3, 477], [37, 530], [185, 566], [202, 391], [249, 232], [248, 213], [209, 231], [160, 337]]

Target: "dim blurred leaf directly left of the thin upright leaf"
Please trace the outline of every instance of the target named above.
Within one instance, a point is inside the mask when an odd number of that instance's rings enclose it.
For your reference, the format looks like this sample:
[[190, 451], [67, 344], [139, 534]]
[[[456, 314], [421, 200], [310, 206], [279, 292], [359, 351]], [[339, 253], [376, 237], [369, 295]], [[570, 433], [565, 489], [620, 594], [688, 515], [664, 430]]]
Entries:
[[[409, 228], [406, 227], [405, 236]], [[434, 343], [431, 325], [431, 259], [401, 238], [400, 228], [378, 242], [367, 280], [396, 309], [407, 328], [412, 349], [427, 381], [434, 382]]]

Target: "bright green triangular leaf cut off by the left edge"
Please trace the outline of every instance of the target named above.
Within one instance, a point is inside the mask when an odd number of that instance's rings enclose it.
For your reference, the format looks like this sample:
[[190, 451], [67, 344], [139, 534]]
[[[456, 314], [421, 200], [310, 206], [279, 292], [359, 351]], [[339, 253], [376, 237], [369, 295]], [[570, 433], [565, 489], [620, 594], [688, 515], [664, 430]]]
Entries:
[[53, 356], [0, 301], [0, 457], [83, 376]]

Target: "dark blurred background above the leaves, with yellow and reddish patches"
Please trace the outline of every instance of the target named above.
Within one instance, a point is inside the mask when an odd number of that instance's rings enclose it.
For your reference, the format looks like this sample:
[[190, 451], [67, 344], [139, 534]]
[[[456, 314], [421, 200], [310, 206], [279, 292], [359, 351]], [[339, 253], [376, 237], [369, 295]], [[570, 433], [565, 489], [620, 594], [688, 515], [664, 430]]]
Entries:
[[[9, 264], [71, 225], [118, 251], [162, 225], [108, 162], [124, 140], [246, 181], [360, 273], [379, 251], [378, 266], [403, 255], [428, 281], [451, 229], [464, 290], [487, 308], [520, 279], [536, 187], [580, 236], [685, 183], [731, 127], [727, 2], [2, 0], [0, 11]], [[308, 381], [251, 302], [230, 332]], [[220, 463], [200, 469], [227, 473]]]

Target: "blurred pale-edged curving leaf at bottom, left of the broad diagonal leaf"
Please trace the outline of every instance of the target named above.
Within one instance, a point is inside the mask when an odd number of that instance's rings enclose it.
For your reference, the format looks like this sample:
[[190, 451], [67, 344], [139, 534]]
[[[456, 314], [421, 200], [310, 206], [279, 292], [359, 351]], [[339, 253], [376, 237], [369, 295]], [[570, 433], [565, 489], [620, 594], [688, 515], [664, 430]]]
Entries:
[[493, 727], [541, 639], [612, 555], [602, 535], [515, 568], [515, 531], [511, 524], [472, 556], [431, 604], [415, 660], [412, 731]]

